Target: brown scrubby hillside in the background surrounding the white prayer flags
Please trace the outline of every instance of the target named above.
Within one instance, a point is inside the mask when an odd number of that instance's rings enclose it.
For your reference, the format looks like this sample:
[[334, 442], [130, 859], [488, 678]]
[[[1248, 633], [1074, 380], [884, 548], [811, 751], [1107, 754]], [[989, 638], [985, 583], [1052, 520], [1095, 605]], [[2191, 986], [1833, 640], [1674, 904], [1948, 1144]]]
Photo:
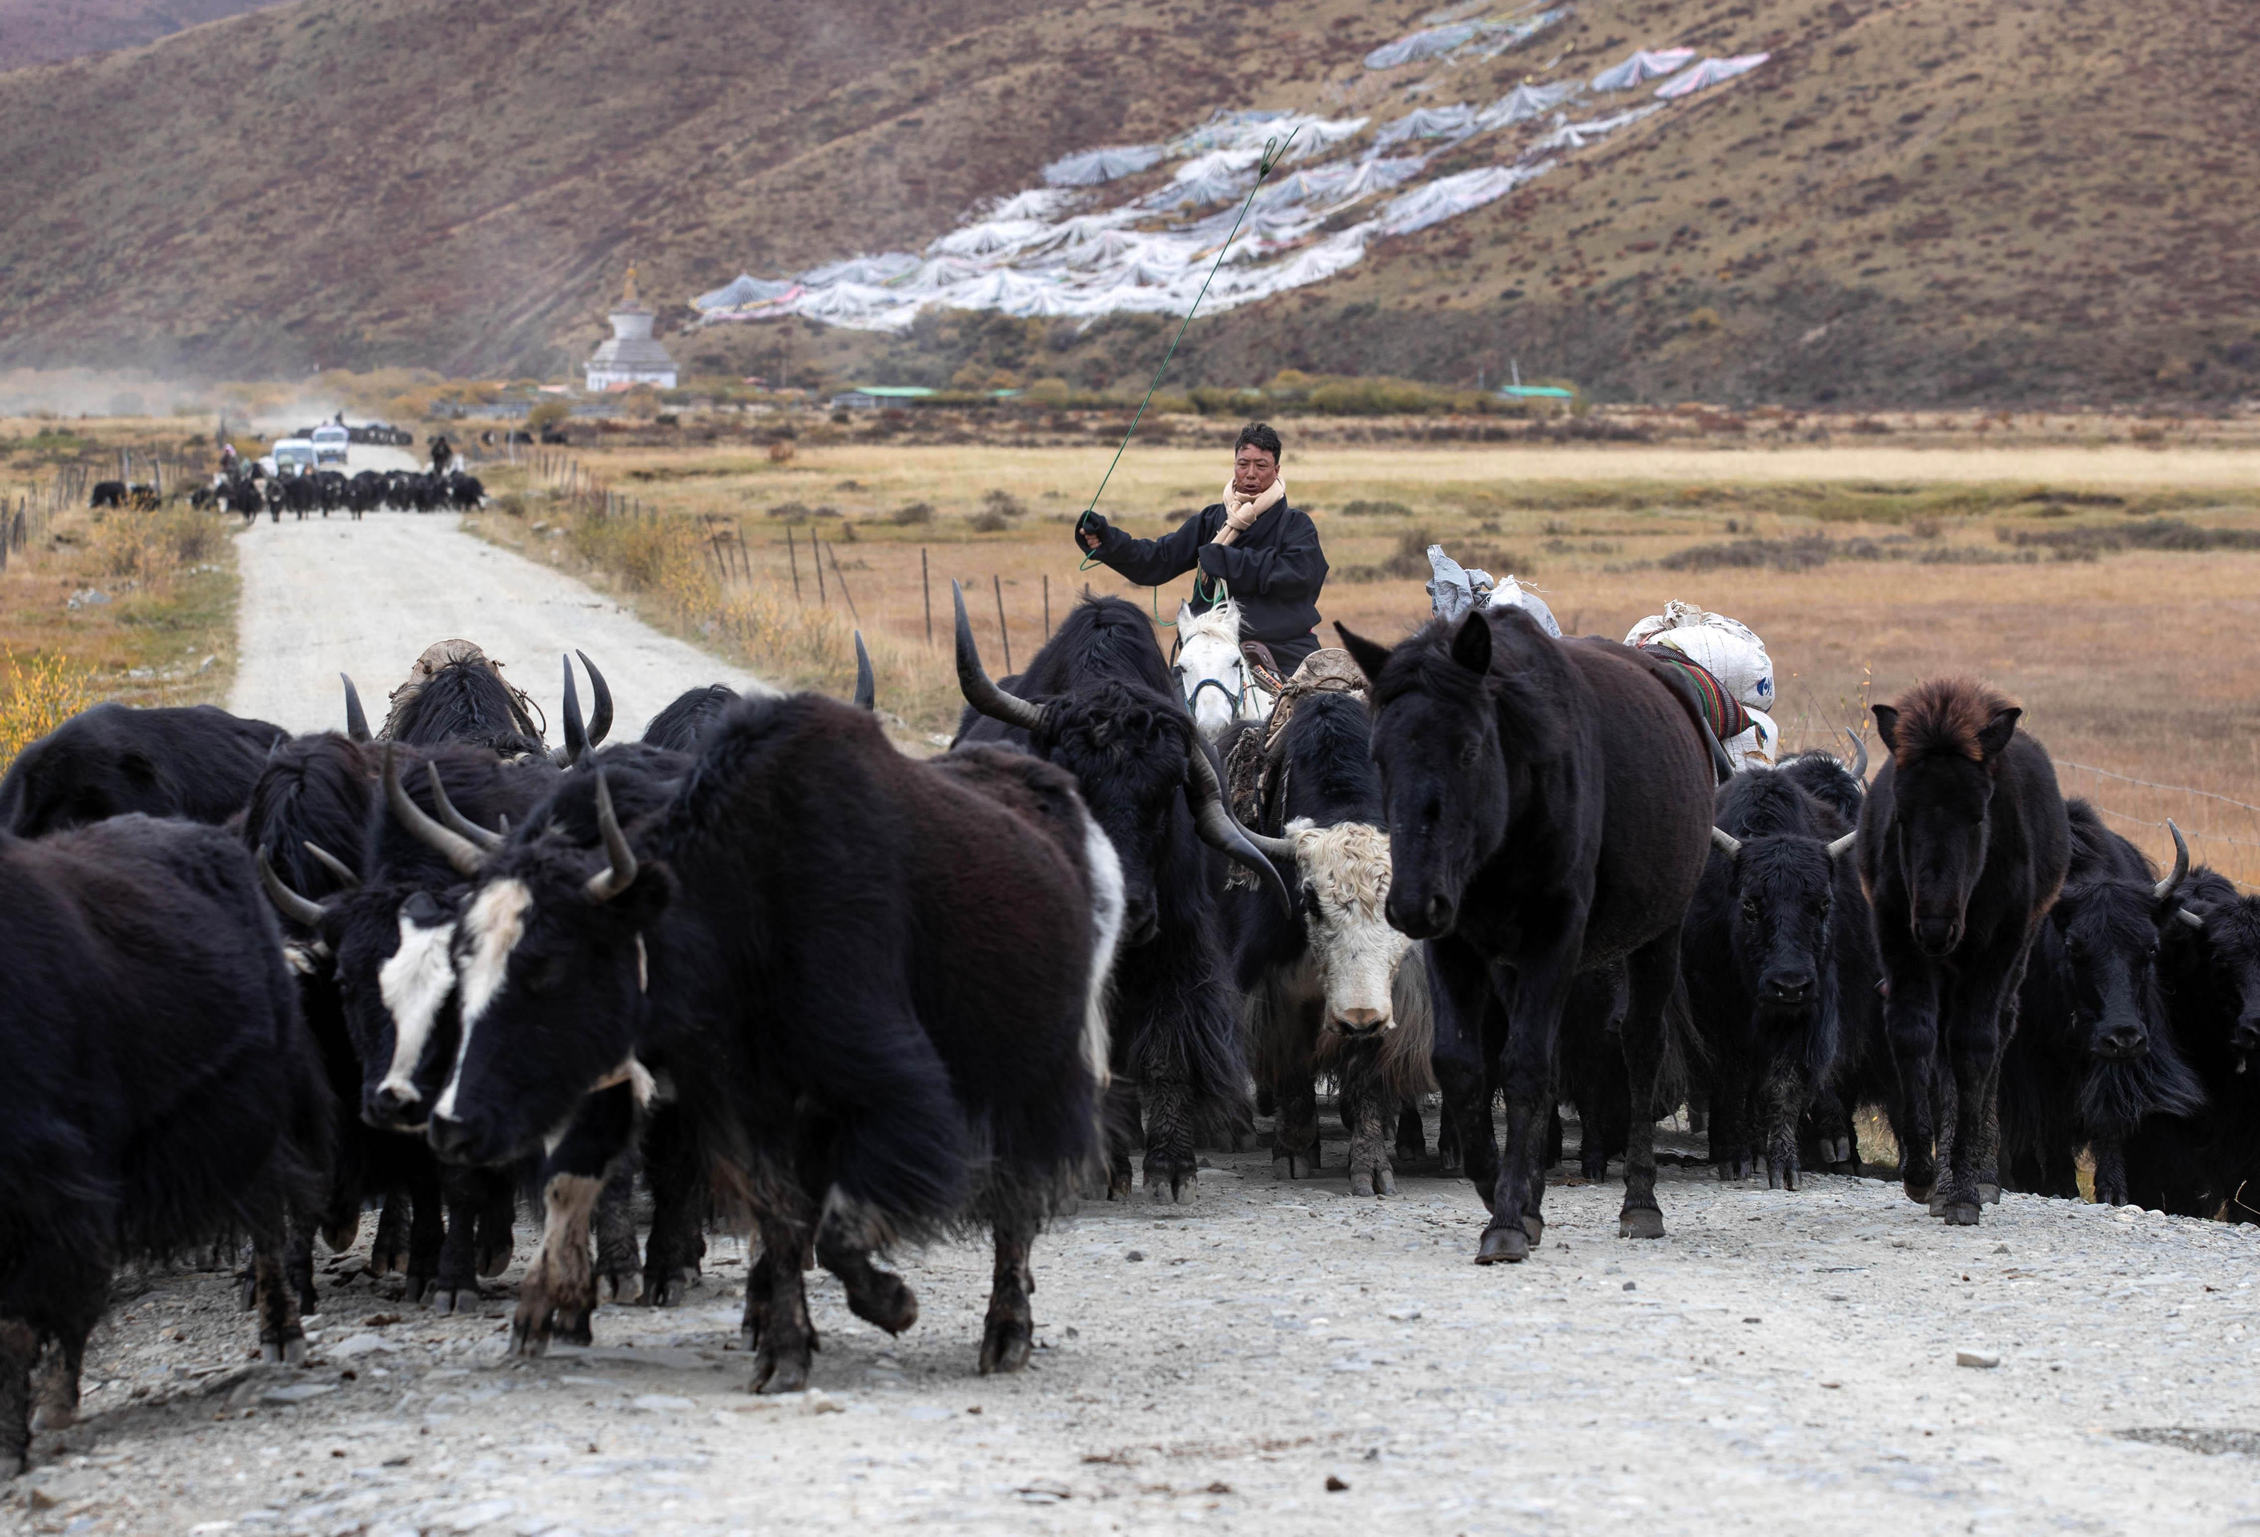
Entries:
[[[1498, 7], [1528, 16], [1532, 7]], [[1046, 163], [1218, 108], [1489, 102], [1634, 47], [1763, 68], [1474, 212], [1202, 319], [1184, 380], [1577, 377], [1605, 398], [2228, 400], [2260, 387], [2240, 0], [1587, 0], [1376, 70], [1401, 0], [296, 0], [0, 77], [0, 366], [554, 373], [624, 267], [662, 303], [918, 251]], [[1444, 14], [1489, 16], [1469, 7]], [[1580, 111], [1582, 108], [1573, 108]], [[1593, 108], [1600, 111], [1600, 108]], [[1505, 165], [1546, 120], [1426, 145]], [[1166, 174], [1155, 172], [1166, 179]], [[676, 337], [707, 371], [963, 362], [1119, 384], [1157, 316]], [[1051, 357], [1031, 357], [1049, 350]]]

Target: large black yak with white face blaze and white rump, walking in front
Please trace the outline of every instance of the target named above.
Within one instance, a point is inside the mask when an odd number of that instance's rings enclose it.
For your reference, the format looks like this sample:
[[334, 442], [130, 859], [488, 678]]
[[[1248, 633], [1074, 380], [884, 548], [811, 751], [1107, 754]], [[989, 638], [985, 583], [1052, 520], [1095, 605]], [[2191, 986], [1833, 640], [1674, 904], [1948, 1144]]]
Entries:
[[585, 1329], [585, 1218], [617, 1155], [585, 1132], [658, 1076], [759, 1225], [755, 1390], [807, 1386], [805, 1257], [902, 1331], [918, 1302], [872, 1254], [974, 1223], [994, 1236], [981, 1370], [1024, 1365], [1028, 1245], [1098, 1162], [1121, 911], [1067, 775], [920, 764], [814, 694], [732, 705], [626, 825], [608, 771], [567, 778], [463, 902], [463, 1040], [429, 1130], [466, 1162], [551, 1148], [515, 1349]]

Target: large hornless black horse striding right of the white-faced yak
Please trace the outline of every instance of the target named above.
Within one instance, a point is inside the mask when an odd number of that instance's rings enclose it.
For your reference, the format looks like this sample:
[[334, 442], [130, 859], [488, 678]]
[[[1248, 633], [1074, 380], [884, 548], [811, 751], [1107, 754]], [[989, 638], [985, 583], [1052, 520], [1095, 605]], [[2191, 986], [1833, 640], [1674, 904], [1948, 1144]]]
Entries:
[[1580, 972], [1627, 988], [1620, 1232], [1661, 1236], [1650, 1114], [1715, 784], [1695, 701], [1636, 651], [1553, 640], [1519, 608], [1428, 624], [1394, 651], [1349, 631], [1342, 644], [1372, 680], [1390, 924], [1428, 940], [1435, 1078], [1492, 1209], [1476, 1259], [1525, 1259], [1544, 1234], [1555, 1049]]

